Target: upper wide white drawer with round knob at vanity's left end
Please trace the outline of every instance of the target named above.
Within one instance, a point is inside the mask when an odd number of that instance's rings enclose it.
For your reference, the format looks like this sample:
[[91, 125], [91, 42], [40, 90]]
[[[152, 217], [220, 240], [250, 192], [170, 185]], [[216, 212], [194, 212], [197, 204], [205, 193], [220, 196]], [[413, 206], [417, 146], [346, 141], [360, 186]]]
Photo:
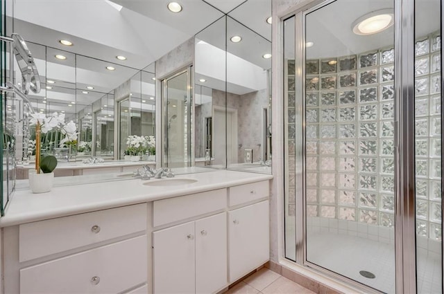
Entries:
[[146, 230], [146, 203], [19, 226], [19, 261]]

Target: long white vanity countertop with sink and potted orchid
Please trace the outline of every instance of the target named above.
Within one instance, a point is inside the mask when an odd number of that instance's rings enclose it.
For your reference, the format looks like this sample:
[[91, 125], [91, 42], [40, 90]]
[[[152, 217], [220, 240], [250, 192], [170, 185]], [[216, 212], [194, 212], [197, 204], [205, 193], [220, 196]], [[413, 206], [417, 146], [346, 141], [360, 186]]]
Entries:
[[[103, 178], [105, 175], [103, 174], [65, 176], [54, 178], [54, 187], [50, 192], [33, 194], [28, 188], [28, 181], [19, 180], [17, 181], [17, 191], [15, 191], [6, 208], [6, 215], [0, 219], [0, 227], [167, 199], [273, 178], [271, 174], [217, 170], [205, 167], [184, 168], [182, 172], [185, 172], [185, 169], [196, 169], [196, 173], [180, 174], [180, 169], [177, 169], [177, 171], [174, 169], [176, 173], [174, 179], [185, 178], [196, 180], [196, 182], [184, 185], [147, 186], [144, 183], [168, 181], [168, 179], [151, 178], [151, 180], [143, 181], [139, 178], [126, 178], [123, 181], [117, 181], [117, 174], [114, 174], [114, 180], [105, 181]], [[82, 178], [85, 177], [89, 178], [89, 183], [82, 183]], [[101, 183], [91, 183], [91, 181], [101, 181], [101, 177], [103, 180]], [[107, 177], [109, 179], [110, 174]]]

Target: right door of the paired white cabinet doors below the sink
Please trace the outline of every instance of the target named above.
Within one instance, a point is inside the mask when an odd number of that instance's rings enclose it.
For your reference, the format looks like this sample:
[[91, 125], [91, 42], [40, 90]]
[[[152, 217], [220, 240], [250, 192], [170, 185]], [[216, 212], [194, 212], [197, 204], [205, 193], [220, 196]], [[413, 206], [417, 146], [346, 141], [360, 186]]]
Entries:
[[227, 280], [227, 214], [196, 221], [196, 293], [221, 290]]

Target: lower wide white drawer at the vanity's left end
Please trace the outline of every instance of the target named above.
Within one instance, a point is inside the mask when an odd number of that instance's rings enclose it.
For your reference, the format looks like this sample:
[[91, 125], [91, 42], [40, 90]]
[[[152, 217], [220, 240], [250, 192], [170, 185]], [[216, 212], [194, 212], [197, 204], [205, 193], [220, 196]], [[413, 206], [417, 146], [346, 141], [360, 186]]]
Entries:
[[122, 293], [146, 283], [147, 253], [144, 235], [24, 268], [20, 293]]

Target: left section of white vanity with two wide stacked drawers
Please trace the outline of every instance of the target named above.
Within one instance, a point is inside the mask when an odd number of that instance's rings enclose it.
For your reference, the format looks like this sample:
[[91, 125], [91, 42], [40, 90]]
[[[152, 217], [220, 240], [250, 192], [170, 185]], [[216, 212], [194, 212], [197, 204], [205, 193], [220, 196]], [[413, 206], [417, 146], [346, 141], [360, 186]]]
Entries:
[[4, 293], [148, 293], [147, 205], [4, 228]]

